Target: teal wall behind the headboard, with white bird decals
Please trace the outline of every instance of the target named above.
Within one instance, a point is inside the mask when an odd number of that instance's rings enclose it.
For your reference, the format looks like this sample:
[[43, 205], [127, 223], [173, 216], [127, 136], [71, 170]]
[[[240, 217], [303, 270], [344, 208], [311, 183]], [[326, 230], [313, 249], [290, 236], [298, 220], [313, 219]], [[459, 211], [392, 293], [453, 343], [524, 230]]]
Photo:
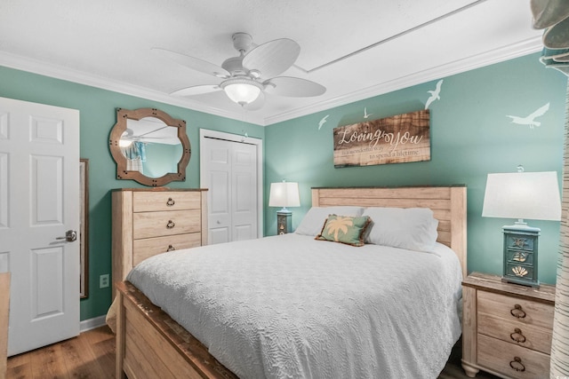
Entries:
[[[299, 183], [301, 208], [293, 228], [310, 207], [312, 186], [468, 186], [468, 269], [501, 273], [501, 226], [513, 220], [481, 217], [486, 175], [555, 170], [561, 178], [566, 78], [545, 68], [539, 54], [443, 78], [440, 100], [430, 109], [431, 160], [335, 169], [333, 128], [424, 109], [438, 80], [357, 101], [317, 114], [270, 125], [265, 132], [265, 193], [271, 182]], [[541, 126], [511, 123], [549, 103]], [[320, 120], [329, 114], [322, 128]], [[561, 183], [561, 182], [560, 182]], [[267, 203], [267, 199], [266, 199]], [[275, 234], [276, 209], [266, 208], [265, 233]], [[541, 228], [539, 278], [555, 283], [559, 222], [530, 221]]]

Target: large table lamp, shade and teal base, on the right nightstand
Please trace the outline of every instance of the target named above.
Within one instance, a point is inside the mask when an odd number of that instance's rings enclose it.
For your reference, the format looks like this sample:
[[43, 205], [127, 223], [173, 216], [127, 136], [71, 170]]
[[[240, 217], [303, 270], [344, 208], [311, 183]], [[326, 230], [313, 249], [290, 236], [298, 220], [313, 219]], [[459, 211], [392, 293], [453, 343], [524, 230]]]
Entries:
[[502, 226], [504, 265], [502, 281], [539, 287], [538, 237], [541, 229], [524, 219], [561, 220], [557, 172], [488, 174], [482, 217], [517, 218]]

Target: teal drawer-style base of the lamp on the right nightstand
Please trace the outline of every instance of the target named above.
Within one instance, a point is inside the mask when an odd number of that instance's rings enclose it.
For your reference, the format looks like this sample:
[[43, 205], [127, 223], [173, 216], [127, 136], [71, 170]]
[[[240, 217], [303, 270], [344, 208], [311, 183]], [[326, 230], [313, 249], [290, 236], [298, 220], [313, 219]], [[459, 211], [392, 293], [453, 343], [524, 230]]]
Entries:
[[541, 229], [527, 225], [506, 225], [504, 233], [504, 282], [540, 287], [537, 279], [538, 237]]

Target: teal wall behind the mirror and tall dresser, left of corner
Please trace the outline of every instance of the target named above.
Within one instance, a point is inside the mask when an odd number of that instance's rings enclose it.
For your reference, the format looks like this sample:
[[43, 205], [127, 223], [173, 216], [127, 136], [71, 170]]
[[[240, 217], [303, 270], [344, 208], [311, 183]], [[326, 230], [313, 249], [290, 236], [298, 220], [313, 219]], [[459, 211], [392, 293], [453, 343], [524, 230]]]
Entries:
[[199, 129], [219, 130], [264, 138], [264, 128], [182, 107], [161, 104], [113, 91], [70, 83], [42, 75], [0, 67], [0, 96], [80, 111], [82, 158], [89, 160], [89, 297], [81, 300], [81, 320], [103, 315], [111, 299], [110, 288], [99, 288], [99, 276], [111, 272], [111, 196], [113, 188], [134, 188], [132, 180], [116, 180], [116, 164], [108, 137], [116, 122], [116, 108], [155, 107], [187, 122], [191, 159], [185, 182], [172, 188], [199, 187]]

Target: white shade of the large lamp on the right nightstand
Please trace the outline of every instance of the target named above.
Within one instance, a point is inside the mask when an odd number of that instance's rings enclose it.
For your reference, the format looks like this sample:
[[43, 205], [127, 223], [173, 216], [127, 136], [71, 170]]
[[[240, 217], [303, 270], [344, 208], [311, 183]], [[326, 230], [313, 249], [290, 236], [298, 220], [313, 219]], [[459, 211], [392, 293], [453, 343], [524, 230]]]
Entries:
[[561, 220], [557, 172], [488, 174], [482, 216]]

